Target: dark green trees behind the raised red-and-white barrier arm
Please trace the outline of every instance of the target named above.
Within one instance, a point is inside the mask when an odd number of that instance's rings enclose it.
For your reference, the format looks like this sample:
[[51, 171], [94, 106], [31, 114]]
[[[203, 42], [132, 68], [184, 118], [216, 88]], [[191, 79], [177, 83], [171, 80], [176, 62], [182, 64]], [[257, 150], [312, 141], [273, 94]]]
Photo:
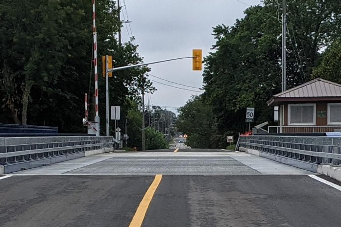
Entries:
[[[105, 123], [105, 81], [101, 55], [113, 56], [113, 66], [142, 62], [137, 45], [119, 44], [121, 26], [115, 1], [97, 1], [99, 115]], [[60, 132], [85, 132], [84, 93], [88, 93], [90, 120], [94, 117], [92, 63], [92, 2], [89, 0], [1, 0], [0, 2], [0, 119], [1, 123], [58, 126]], [[142, 75], [148, 68], [114, 73], [109, 79], [110, 106], [130, 108], [126, 97], [137, 100]], [[119, 122], [124, 127], [124, 120]]]

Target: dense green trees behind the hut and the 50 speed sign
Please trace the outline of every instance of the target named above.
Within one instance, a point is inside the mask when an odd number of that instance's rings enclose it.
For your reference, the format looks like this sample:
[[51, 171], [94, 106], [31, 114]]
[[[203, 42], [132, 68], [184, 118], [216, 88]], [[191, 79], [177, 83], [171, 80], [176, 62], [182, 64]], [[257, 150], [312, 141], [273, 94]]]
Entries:
[[[340, 1], [287, 4], [287, 88], [314, 77], [340, 83]], [[281, 2], [264, 0], [263, 6], [247, 8], [233, 26], [213, 28], [216, 44], [204, 59], [205, 92], [180, 109], [178, 127], [193, 133], [190, 146], [226, 147], [227, 134], [247, 130], [247, 107], [255, 107], [253, 125], [271, 124], [267, 101], [281, 91], [281, 11]]]

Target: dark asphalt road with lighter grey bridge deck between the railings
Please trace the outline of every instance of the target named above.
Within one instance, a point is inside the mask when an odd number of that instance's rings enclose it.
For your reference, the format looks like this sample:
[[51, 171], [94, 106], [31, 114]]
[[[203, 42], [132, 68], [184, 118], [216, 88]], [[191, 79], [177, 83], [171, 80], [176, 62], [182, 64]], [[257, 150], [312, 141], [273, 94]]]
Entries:
[[162, 180], [144, 227], [341, 226], [341, 191], [310, 172], [244, 153], [186, 151], [108, 153], [17, 172], [0, 179], [0, 227], [128, 227], [155, 174]]

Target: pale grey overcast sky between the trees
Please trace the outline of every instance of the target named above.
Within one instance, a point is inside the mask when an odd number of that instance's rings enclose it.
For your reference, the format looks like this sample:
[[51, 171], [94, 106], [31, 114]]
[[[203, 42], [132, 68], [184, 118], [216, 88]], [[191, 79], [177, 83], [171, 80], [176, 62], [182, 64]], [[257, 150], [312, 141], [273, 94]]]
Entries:
[[[260, 0], [242, 1], [249, 5], [261, 3]], [[238, 0], [121, 0], [121, 5], [126, 6], [122, 7], [121, 20], [127, 20], [128, 15], [129, 21], [132, 22], [129, 23], [130, 27], [123, 24], [122, 41], [126, 42], [132, 33], [144, 62], [192, 56], [192, 49], [195, 48], [202, 49], [204, 57], [215, 44], [211, 35], [212, 27], [222, 23], [233, 25], [237, 18], [244, 17], [244, 10], [248, 7], [246, 4]], [[202, 87], [202, 71], [192, 71], [192, 59], [150, 65], [150, 68], [150, 74], [160, 78], [192, 87]], [[149, 79], [197, 90], [155, 77]], [[153, 85], [157, 88], [157, 91], [150, 95], [153, 105], [180, 107], [192, 94], [200, 94], [155, 82]], [[148, 97], [149, 95], [146, 95], [146, 102]], [[176, 112], [174, 109], [167, 109]]]

